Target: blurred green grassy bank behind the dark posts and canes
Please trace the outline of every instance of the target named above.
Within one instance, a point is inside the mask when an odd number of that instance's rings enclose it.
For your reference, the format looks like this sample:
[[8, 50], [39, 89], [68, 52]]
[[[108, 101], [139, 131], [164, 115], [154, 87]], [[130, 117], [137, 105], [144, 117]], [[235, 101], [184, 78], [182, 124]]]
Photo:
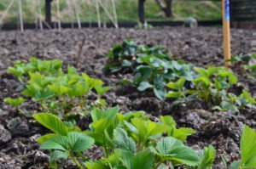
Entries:
[[[72, 0], [74, 1], [74, 0]], [[61, 21], [71, 22], [75, 21], [75, 14], [68, 8], [71, 5], [68, 5], [70, 1], [60, 0], [60, 9], [61, 9]], [[79, 15], [81, 21], [93, 22], [97, 20], [96, 15], [96, 5], [93, 3], [95, 1], [88, 0], [76, 0], [76, 3], [79, 7]], [[117, 15], [119, 21], [137, 21], [137, 0], [115, 0]], [[3, 15], [3, 12], [8, 7], [9, 0], [1, 0], [0, 2], [0, 17]], [[38, 0], [40, 3], [40, 8], [42, 14], [38, 13], [38, 16], [44, 17], [44, 1]], [[102, 3], [105, 3], [106, 7], [110, 12], [111, 9], [111, 0], [104, 0]], [[159, 6], [155, 3], [155, 0], [147, 0], [145, 3], [145, 17], [146, 20], [183, 20], [188, 17], [195, 17], [198, 20], [220, 20], [221, 19], [221, 3], [220, 2], [211, 2], [211, 1], [180, 1], [174, 0], [172, 3], [172, 18], [165, 18], [164, 13], [160, 10]], [[24, 20], [26, 23], [34, 23], [37, 19], [37, 1], [36, 0], [22, 0], [22, 9], [24, 14]], [[52, 14], [53, 20], [57, 20], [56, 12], [56, 1], [52, 3]], [[105, 18], [104, 12], [101, 9], [101, 20], [109, 21], [108, 18]], [[9, 11], [9, 14], [5, 20], [8, 23], [17, 22], [17, 4], [15, 2], [14, 6]]]

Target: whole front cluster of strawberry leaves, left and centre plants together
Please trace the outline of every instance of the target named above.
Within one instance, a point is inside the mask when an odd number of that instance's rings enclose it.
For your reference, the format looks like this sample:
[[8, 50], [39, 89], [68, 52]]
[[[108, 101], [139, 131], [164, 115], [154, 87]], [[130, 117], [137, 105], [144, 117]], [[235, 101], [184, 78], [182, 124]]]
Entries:
[[[87, 131], [67, 127], [49, 113], [34, 115], [38, 122], [54, 132], [38, 138], [42, 144], [40, 149], [53, 150], [52, 166], [60, 165], [60, 159], [66, 161], [67, 158], [79, 168], [89, 169], [210, 168], [214, 161], [212, 146], [197, 153], [183, 144], [194, 131], [177, 128], [172, 116], [161, 116], [161, 122], [154, 122], [143, 111], [121, 114], [116, 107], [92, 110], [90, 115], [93, 121]], [[166, 137], [163, 137], [164, 133]], [[84, 157], [82, 152], [92, 144], [102, 148], [102, 159], [92, 161]]]

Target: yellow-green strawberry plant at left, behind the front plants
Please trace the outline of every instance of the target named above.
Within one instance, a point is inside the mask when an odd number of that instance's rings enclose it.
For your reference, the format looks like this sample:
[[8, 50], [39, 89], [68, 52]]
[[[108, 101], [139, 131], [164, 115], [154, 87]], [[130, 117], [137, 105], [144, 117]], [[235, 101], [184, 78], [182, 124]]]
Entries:
[[[43, 112], [54, 113], [61, 118], [73, 115], [88, 115], [93, 107], [105, 108], [107, 103], [102, 94], [111, 87], [102, 87], [104, 82], [92, 78], [85, 73], [81, 75], [72, 67], [67, 67], [67, 73], [61, 70], [59, 60], [41, 61], [30, 59], [28, 64], [15, 64], [8, 71], [22, 82], [21, 94], [39, 103]], [[20, 73], [16, 73], [20, 72]], [[87, 96], [96, 90], [96, 100]], [[6, 102], [12, 104], [11, 100]]]

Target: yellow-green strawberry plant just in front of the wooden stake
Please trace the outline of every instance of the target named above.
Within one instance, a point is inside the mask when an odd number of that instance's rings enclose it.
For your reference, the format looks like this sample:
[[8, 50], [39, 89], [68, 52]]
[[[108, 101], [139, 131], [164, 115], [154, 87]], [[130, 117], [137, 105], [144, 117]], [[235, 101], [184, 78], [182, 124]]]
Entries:
[[195, 68], [200, 74], [195, 78], [197, 97], [210, 104], [213, 109], [237, 111], [233, 104], [234, 94], [228, 93], [231, 85], [237, 82], [237, 77], [231, 70], [224, 67]]

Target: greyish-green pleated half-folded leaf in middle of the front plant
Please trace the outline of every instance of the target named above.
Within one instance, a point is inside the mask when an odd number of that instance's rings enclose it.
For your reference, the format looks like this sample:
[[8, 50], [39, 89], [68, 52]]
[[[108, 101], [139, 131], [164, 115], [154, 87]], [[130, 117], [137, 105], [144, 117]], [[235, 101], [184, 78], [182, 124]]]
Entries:
[[119, 149], [135, 152], [136, 144], [132, 138], [129, 138], [127, 132], [122, 128], [116, 128], [113, 131], [113, 138]]

